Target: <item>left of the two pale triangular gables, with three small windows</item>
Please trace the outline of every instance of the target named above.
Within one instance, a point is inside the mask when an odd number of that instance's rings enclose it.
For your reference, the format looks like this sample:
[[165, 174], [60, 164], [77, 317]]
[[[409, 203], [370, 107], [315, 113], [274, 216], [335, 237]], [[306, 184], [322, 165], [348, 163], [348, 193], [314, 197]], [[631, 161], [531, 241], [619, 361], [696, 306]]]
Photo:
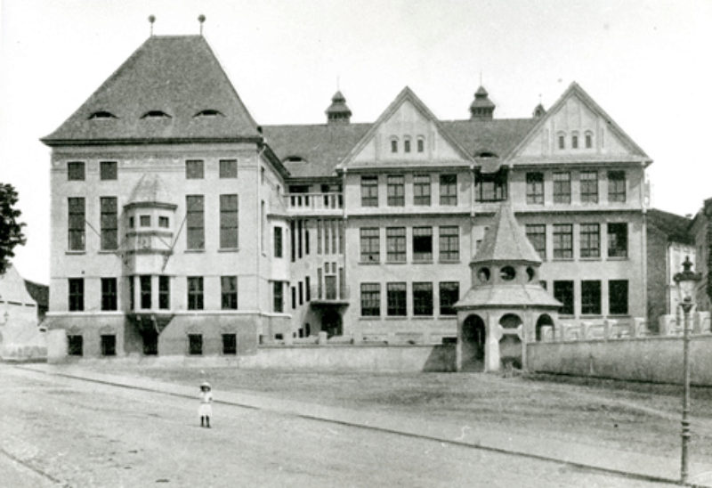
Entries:
[[[418, 139], [423, 140], [423, 151], [418, 150]], [[465, 148], [406, 86], [338, 167], [438, 166], [469, 164], [471, 160]]]

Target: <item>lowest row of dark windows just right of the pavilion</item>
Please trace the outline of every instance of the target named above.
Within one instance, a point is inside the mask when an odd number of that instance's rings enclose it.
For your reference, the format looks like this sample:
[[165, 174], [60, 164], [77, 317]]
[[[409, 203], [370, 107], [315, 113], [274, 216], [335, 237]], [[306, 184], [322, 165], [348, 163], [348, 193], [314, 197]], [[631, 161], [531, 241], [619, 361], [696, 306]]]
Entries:
[[[546, 282], [542, 282], [546, 287]], [[580, 303], [582, 315], [601, 315], [601, 281], [583, 280], [580, 282]], [[554, 281], [554, 297], [563, 306], [562, 315], [573, 315], [574, 310], [574, 282]], [[627, 315], [628, 313], [628, 281], [608, 281], [608, 313], [611, 315]]]

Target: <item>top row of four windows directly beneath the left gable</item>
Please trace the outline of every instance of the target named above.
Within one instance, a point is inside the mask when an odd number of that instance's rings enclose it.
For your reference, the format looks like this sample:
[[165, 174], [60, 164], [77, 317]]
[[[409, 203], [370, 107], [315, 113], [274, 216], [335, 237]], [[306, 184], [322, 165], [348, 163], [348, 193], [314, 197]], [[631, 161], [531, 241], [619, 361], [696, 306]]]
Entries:
[[[431, 175], [413, 176], [413, 204], [431, 205]], [[405, 206], [405, 176], [388, 175], [388, 206]], [[440, 175], [440, 204], [457, 205], [457, 175]], [[361, 207], [378, 207], [378, 176], [361, 176]]]

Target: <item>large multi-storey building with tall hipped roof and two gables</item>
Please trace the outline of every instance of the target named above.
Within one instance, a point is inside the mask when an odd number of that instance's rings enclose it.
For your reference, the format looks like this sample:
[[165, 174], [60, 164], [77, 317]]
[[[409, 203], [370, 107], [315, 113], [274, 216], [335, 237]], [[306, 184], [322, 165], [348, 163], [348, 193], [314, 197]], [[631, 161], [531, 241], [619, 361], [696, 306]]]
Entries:
[[575, 83], [527, 118], [468, 107], [406, 87], [356, 124], [336, 93], [324, 124], [258, 126], [203, 37], [150, 37], [43, 139], [52, 327], [83, 355], [453, 338], [503, 201], [559, 321], [645, 316], [651, 159]]

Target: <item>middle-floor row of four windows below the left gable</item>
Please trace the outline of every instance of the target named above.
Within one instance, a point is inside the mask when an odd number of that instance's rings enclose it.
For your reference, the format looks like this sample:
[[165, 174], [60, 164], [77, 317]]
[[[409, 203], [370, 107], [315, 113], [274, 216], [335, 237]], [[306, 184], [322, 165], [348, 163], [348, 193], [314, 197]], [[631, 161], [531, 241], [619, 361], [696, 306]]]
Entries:
[[[460, 258], [460, 228], [457, 225], [441, 225], [439, 231], [439, 257], [441, 261], [457, 261]], [[386, 263], [406, 262], [406, 228], [385, 228]], [[433, 227], [413, 227], [411, 249], [413, 262], [433, 261]], [[381, 261], [381, 229], [360, 228], [361, 263]]]

